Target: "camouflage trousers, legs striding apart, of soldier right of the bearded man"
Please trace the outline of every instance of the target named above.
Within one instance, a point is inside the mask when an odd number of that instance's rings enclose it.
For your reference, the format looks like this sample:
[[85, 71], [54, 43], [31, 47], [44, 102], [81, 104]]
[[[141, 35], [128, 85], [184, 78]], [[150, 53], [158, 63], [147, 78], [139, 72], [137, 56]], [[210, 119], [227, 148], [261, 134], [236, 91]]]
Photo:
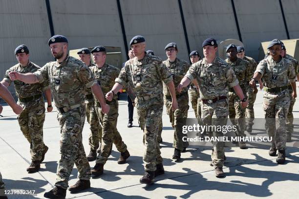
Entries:
[[102, 113], [100, 103], [96, 104], [96, 111], [103, 125], [101, 146], [102, 154], [99, 154], [96, 159], [96, 163], [101, 164], [105, 164], [111, 154], [112, 143], [115, 144], [119, 152], [125, 152], [127, 150], [127, 145], [124, 143], [116, 128], [118, 118], [118, 101], [113, 99], [112, 101], [107, 101], [107, 104], [110, 106], [108, 114]]

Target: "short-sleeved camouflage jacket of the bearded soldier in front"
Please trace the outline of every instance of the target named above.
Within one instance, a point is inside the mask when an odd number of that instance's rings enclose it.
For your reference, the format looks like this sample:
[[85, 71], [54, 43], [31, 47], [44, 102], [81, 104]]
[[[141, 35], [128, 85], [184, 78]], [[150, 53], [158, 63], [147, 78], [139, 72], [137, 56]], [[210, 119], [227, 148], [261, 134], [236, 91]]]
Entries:
[[90, 88], [97, 83], [84, 62], [69, 56], [62, 63], [46, 63], [34, 74], [40, 82], [49, 80], [55, 105], [59, 108], [83, 104], [85, 86]]

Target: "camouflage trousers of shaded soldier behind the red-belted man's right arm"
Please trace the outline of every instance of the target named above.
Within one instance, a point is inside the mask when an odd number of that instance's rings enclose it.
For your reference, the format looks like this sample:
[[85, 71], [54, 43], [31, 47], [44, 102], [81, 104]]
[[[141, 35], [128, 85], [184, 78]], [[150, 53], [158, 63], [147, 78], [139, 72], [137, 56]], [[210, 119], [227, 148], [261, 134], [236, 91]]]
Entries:
[[236, 135], [245, 137], [245, 110], [241, 106], [239, 97], [234, 92], [229, 92], [229, 116], [233, 125], [236, 126]]

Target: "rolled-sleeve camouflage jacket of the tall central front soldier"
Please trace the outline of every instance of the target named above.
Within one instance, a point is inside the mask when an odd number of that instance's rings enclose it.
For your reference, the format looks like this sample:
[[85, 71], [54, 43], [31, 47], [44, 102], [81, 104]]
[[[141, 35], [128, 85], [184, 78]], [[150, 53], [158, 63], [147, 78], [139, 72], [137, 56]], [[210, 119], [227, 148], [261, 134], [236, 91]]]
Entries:
[[142, 60], [137, 60], [137, 57], [128, 60], [115, 79], [123, 86], [128, 83], [136, 96], [137, 108], [163, 106], [162, 81], [165, 84], [172, 81], [168, 68], [160, 58], [148, 54]]

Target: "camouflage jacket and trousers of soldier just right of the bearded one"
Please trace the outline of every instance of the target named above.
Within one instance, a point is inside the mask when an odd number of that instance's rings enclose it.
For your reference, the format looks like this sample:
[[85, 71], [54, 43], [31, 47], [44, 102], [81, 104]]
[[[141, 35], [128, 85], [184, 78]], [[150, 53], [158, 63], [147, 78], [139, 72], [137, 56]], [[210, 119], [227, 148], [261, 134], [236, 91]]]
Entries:
[[[118, 77], [120, 70], [107, 63], [102, 68], [92, 66], [92, 73], [94, 74], [98, 84], [101, 85], [104, 96], [112, 89], [114, 80]], [[112, 148], [112, 143], [115, 144], [119, 152], [125, 152], [127, 145], [123, 142], [121, 135], [119, 134], [116, 125], [118, 118], [118, 101], [117, 95], [114, 95], [112, 101], [106, 100], [106, 103], [110, 106], [110, 111], [107, 114], [102, 113], [100, 102], [96, 99], [96, 111], [98, 117], [103, 125], [102, 130], [102, 154], [99, 154], [96, 163], [105, 164]]]

